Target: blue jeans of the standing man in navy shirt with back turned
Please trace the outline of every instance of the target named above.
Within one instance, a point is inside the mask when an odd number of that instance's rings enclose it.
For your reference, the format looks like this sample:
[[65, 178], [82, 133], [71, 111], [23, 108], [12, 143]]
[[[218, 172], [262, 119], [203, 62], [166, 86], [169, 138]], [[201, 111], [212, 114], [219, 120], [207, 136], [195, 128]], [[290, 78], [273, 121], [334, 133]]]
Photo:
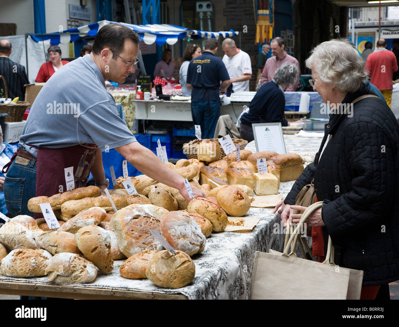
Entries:
[[201, 138], [213, 139], [217, 120], [220, 116], [220, 102], [197, 101], [191, 103], [191, 113], [194, 125], [201, 126]]

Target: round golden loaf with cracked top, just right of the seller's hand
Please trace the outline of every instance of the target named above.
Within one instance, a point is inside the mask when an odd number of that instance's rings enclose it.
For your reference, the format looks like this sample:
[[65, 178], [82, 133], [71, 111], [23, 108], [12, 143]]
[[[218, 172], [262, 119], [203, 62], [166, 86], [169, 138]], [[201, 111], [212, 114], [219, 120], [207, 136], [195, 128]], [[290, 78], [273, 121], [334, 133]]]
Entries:
[[223, 187], [217, 193], [220, 206], [232, 217], [242, 217], [251, 207], [248, 195], [237, 186]]

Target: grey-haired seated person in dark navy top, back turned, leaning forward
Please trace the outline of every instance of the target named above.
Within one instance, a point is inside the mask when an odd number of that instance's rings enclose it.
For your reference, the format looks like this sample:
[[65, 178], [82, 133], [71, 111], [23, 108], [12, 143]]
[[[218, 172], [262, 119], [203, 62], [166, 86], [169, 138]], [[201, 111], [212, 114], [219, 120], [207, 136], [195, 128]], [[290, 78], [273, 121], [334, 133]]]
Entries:
[[287, 62], [276, 70], [271, 82], [259, 88], [249, 108], [239, 117], [241, 119], [240, 138], [248, 142], [254, 140], [252, 124], [280, 122], [282, 126], [289, 125], [284, 118], [284, 89], [296, 82], [296, 76], [298, 76], [298, 68]]

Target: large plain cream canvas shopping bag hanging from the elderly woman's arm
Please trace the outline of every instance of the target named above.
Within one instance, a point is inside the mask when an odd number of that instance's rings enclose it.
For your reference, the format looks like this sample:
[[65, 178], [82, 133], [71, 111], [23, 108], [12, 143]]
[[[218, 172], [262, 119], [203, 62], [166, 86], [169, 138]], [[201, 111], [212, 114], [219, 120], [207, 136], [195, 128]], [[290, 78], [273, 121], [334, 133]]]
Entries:
[[[308, 207], [300, 219], [306, 221], [322, 202]], [[255, 252], [251, 280], [251, 299], [359, 299], [363, 271], [334, 265], [331, 239], [323, 263], [300, 259], [295, 255], [300, 239], [296, 227], [284, 247], [284, 252]], [[289, 252], [289, 249], [291, 251]]]

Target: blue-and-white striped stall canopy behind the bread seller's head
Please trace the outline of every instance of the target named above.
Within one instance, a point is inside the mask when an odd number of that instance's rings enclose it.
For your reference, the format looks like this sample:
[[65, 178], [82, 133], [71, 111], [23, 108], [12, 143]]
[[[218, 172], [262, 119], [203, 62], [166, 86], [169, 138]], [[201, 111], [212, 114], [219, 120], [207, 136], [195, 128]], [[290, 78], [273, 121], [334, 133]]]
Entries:
[[92, 41], [94, 40], [98, 30], [108, 24], [120, 24], [131, 28], [132, 30], [137, 32], [138, 36], [140, 37], [140, 41], [143, 41], [145, 44], [153, 44], [155, 42], [158, 45], [162, 45], [165, 43], [172, 45], [175, 44], [178, 40], [182, 40], [188, 36], [191, 36], [194, 39], [217, 39], [219, 38], [219, 36], [227, 38], [230, 36], [239, 35], [239, 32], [235, 32], [233, 30], [227, 32], [205, 32], [200, 30], [191, 30], [190, 28], [170, 24], [135, 25], [101, 20], [100, 22], [77, 28], [71, 28], [65, 31], [59, 31], [43, 35], [31, 34], [31, 37], [36, 42], [50, 40], [50, 44], [52, 45], [74, 42], [76, 40]]

